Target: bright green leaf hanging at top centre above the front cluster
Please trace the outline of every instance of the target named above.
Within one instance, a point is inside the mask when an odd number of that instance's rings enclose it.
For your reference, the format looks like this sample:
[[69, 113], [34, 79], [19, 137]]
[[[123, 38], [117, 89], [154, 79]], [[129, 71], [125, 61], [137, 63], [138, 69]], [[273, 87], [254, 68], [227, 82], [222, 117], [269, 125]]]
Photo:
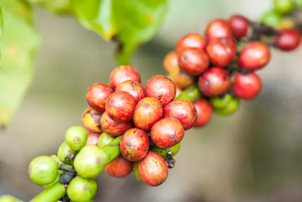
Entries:
[[116, 40], [117, 60], [130, 63], [137, 46], [158, 32], [167, 12], [167, 0], [72, 0], [75, 15], [87, 29], [105, 40]]

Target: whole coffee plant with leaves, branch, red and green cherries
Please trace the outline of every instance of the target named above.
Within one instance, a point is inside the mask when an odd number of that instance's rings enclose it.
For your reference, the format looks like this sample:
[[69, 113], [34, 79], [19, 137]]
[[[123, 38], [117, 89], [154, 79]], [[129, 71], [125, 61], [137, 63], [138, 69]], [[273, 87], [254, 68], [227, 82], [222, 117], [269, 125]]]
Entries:
[[[121, 63], [111, 72], [109, 84], [94, 83], [88, 88], [82, 126], [66, 130], [57, 154], [29, 163], [29, 178], [45, 188], [31, 202], [90, 202], [98, 190], [95, 179], [103, 171], [117, 178], [133, 172], [141, 183], [163, 184], [176, 165], [174, 157], [185, 131], [207, 125], [213, 113], [235, 113], [241, 100], [255, 99], [262, 88], [257, 72], [271, 60], [270, 49], [295, 50], [302, 32], [300, 0], [274, 0], [274, 8], [259, 21], [242, 15], [213, 19], [204, 33], [180, 38], [164, 58], [167, 76], [153, 76], [143, 87], [139, 72], [129, 64], [130, 55], [154, 36], [164, 18], [166, 1], [140, 1], [135, 7], [127, 0], [0, 0], [3, 125], [32, 77], [32, 54], [39, 37], [33, 29], [31, 4], [73, 15], [85, 28], [117, 43]], [[22, 58], [20, 62], [14, 63], [16, 57]], [[13, 97], [15, 102], [10, 102]], [[4, 195], [0, 201], [21, 200]]]

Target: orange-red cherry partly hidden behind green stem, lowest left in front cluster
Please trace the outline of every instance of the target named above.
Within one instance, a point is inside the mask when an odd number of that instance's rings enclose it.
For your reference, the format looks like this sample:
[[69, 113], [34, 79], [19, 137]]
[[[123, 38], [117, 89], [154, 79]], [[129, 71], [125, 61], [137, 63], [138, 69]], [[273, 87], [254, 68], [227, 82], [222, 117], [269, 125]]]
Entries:
[[113, 177], [126, 177], [132, 172], [132, 163], [123, 156], [118, 156], [105, 167], [105, 172]]

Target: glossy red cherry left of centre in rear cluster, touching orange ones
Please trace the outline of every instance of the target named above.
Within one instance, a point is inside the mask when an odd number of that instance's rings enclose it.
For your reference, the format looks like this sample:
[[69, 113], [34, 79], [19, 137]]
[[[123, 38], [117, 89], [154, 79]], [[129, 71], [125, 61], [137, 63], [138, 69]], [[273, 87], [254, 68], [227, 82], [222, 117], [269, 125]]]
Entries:
[[185, 74], [198, 76], [207, 70], [210, 59], [204, 50], [184, 48], [178, 52], [178, 63]]

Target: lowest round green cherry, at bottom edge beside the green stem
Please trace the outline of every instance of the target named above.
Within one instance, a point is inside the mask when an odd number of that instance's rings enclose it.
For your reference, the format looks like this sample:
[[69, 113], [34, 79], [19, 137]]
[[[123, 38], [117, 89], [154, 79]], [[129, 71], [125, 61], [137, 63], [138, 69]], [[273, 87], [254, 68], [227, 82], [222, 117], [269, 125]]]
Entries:
[[67, 196], [73, 202], [90, 201], [98, 190], [97, 182], [94, 179], [74, 177], [66, 189]]

